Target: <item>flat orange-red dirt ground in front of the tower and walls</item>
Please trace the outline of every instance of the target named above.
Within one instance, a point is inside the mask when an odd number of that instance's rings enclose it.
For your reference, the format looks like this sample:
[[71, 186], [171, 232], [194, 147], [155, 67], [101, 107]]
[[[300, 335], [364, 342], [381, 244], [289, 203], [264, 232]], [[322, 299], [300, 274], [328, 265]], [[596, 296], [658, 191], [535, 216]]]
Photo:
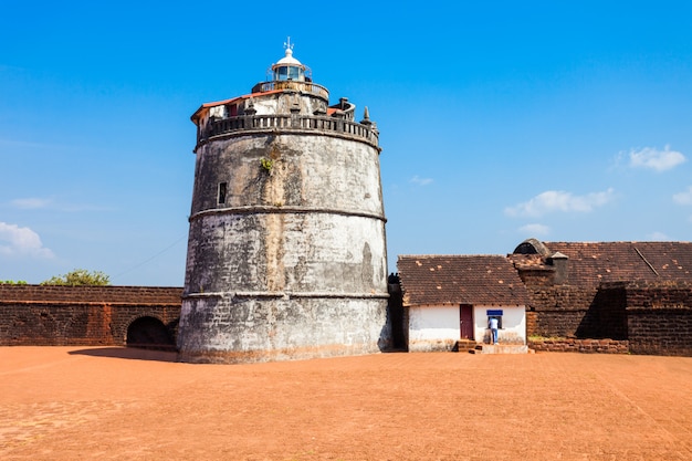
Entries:
[[692, 357], [0, 347], [2, 460], [692, 460]]

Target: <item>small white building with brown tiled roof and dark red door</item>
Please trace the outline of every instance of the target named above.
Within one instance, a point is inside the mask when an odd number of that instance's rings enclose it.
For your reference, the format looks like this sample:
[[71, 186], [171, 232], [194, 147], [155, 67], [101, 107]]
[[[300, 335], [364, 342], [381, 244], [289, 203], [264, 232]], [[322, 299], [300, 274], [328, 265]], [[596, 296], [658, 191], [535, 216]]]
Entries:
[[528, 293], [506, 258], [405, 255], [397, 268], [409, 352], [452, 350], [460, 340], [489, 345], [491, 317], [500, 323], [500, 346], [526, 349]]

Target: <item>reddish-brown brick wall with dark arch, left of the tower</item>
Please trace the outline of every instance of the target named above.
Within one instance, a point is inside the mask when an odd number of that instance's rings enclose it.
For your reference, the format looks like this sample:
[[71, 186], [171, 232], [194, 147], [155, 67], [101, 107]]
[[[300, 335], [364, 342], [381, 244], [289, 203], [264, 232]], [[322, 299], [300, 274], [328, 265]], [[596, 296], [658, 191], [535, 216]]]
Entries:
[[119, 346], [144, 317], [158, 321], [175, 344], [181, 293], [180, 287], [0, 285], [0, 346]]

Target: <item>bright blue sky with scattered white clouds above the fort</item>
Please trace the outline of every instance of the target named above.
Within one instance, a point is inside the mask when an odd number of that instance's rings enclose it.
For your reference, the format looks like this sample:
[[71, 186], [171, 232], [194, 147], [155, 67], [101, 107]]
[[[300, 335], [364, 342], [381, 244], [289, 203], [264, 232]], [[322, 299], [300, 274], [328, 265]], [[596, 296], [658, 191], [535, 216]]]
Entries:
[[690, 240], [692, 2], [0, 3], [0, 280], [182, 285], [189, 117], [287, 35], [378, 124], [390, 271]]

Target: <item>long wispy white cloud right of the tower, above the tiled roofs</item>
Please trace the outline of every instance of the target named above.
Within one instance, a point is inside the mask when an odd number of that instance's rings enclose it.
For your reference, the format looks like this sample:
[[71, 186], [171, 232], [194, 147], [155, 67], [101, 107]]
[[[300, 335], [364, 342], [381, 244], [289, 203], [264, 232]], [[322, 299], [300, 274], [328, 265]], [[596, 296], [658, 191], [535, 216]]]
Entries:
[[541, 217], [554, 211], [562, 212], [590, 212], [594, 208], [602, 207], [612, 201], [615, 191], [609, 188], [602, 192], [591, 192], [586, 196], [573, 196], [563, 190], [547, 190], [538, 193], [533, 199], [505, 208], [504, 212], [512, 217]]

